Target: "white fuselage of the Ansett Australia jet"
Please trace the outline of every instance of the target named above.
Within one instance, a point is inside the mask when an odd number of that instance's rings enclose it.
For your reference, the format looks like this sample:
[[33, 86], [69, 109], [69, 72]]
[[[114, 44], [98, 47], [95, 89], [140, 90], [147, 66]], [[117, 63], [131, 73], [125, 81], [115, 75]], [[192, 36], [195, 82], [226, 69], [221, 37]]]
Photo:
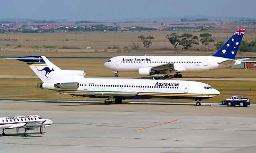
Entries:
[[104, 63], [104, 66], [113, 71], [119, 72], [138, 72], [143, 67], [153, 67], [161, 64], [173, 64], [174, 70], [172, 72], [204, 72], [232, 65], [238, 65], [241, 61], [236, 60], [235, 63], [218, 64], [223, 61], [230, 60], [223, 57], [214, 56], [117, 56], [112, 57]]

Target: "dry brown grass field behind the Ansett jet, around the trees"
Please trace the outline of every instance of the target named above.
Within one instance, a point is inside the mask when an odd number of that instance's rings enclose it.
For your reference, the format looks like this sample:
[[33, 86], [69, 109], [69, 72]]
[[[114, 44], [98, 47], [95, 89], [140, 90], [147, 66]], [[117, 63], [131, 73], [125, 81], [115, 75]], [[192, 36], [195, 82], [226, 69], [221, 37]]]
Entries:
[[[221, 30], [219, 30], [221, 31]], [[230, 32], [231, 31], [231, 32]], [[215, 41], [226, 41], [235, 30], [229, 30], [229, 32], [224, 33], [224, 31], [218, 32], [213, 31], [210, 32], [216, 39]], [[147, 53], [151, 54], [174, 54], [174, 51], [159, 51], [160, 48], [169, 47], [171, 48], [171, 44], [168, 39], [166, 39], [165, 35], [170, 34], [172, 31], [108, 31], [107, 33], [103, 33], [100, 31], [94, 32], [60, 32], [60, 33], [5, 33], [0, 34], [0, 39], [18, 39], [18, 41], [0, 41], [0, 56], [26, 56], [26, 55], [45, 55], [45, 56], [72, 56], [72, 57], [100, 57], [107, 56], [111, 57], [111, 55], [122, 54], [115, 53], [117, 49], [108, 49], [110, 54], [99, 54], [94, 53], [97, 49], [99, 51], [103, 51], [108, 46], [114, 47], [118, 46], [120, 49], [123, 49], [124, 46], [128, 46], [131, 42], [139, 42], [140, 39], [137, 37], [139, 35], [152, 35], [154, 36], [153, 44], [150, 48], [154, 49], [154, 52]], [[176, 32], [179, 35], [185, 32]], [[192, 33], [193, 35], [199, 35], [202, 32], [187, 32]], [[68, 41], [66, 41], [68, 39]], [[244, 35], [243, 40], [254, 41], [256, 39], [256, 30], [248, 29], [246, 34]], [[10, 46], [6, 46], [9, 44]], [[22, 47], [17, 47], [18, 45], [22, 45]], [[56, 46], [55, 49], [45, 49], [44, 46]], [[39, 48], [34, 48], [38, 46]], [[64, 46], [67, 47], [76, 47], [80, 49], [60, 49]], [[141, 43], [141, 48], [144, 48]], [[87, 47], [91, 47], [91, 49], [87, 49]], [[199, 52], [195, 51], [180, 51], [180, 55], [211, 55], [215, 52], [215, 48], [213, 43], [210, 45], [211, 51], [203, 51], [204, 45], [200, 43], [196, 48], [200, 49]], [[179, 47], [181, 50], [181, 47]], [[4, 52], [8, 50], [8, 52]], [[144, 53], [140, 53], [143, 55]], [[137, 55], [137, 54], [136, 54]], [[252, 55], [256, 55], [253, 53]], [[238, 54], [237, 57], [247, 57], [248, 53]]]

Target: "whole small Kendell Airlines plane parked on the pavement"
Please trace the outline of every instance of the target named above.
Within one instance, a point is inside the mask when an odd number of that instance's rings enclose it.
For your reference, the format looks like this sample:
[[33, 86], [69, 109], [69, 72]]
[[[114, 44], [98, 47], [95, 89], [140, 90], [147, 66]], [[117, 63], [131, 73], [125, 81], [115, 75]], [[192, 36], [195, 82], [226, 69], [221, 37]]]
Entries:
[[43, 128], [52, 123], [52, 120], [41, 118], [38, 115], [2, 117], [0, 118], [0, 129], [3, 129], [2, 136], [5, 136], [5, 129], [16, 128], [19, 133], [19, 128], [24, 128], [24, 137], [28, 137], [27, 130], [40, 128], [40, 134], [44, 134]]

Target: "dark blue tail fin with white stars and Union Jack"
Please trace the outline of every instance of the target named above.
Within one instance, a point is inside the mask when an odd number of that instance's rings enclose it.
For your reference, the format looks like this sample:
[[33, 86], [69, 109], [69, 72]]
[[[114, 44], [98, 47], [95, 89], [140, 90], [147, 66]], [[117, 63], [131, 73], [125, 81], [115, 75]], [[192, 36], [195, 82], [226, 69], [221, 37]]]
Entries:
[[245, 29], [238, 29], [228, 41], [212, 56], [235, 59]]

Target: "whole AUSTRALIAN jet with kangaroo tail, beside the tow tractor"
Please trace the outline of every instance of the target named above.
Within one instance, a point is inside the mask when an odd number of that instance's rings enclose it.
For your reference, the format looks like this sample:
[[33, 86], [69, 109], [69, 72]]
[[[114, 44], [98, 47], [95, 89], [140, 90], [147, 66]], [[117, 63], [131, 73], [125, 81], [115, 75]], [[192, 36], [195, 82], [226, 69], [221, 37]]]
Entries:
[[54, 90], [72, 96], [108, 98], [105, 104], [121, 104], [125, 99], [177, 98], [194, 99], [200, 105], [202, 99], [220, 94], [210, 85], [187, 80], [148, 80], [86, 78], [85, 71], [62, 70], [44, 56], [14, 58], [26, 62], [43, 81], [39, 88]]

